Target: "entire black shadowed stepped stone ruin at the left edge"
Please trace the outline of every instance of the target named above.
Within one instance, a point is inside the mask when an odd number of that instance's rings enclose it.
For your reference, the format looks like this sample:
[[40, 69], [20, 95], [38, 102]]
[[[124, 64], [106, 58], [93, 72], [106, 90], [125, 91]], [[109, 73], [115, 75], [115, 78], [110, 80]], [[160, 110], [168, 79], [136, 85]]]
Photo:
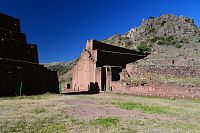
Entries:
[[0, 96], [59, 92], [56, 71], [39, 64], [37, 45], [27, 44], [20, 20], [0, 13]]

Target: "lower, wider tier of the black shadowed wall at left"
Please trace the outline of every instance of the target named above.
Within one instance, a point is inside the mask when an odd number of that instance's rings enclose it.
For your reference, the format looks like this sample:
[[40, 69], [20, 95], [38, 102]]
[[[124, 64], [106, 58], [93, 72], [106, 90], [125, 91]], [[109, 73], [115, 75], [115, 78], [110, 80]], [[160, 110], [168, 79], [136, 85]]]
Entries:
[[0, 59], [0, 96], [33, 95], [46, 92], [58, 93], [56, 71], [49, 71], [42, 65]]

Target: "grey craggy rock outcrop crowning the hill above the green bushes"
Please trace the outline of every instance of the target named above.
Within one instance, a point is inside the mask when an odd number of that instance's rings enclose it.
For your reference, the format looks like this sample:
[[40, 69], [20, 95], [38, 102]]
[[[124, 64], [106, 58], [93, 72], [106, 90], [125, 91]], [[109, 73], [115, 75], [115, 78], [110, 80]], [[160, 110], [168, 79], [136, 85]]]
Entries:
[[197, 27], [193, 19], [167, 14], [159, 18], [143, 20], [142, 25], [131, 29], [127, 37], [137, 42], [153, 33], [157, 36], [173, 36], [179, 40], [192, 39], [196, 36]]

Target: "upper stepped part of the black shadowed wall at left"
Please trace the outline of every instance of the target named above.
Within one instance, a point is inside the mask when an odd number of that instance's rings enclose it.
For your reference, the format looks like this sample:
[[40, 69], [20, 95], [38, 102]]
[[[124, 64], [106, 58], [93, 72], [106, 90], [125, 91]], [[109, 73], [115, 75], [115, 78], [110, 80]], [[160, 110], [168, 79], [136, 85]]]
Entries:
[[38, 63], [36, 45], [28, 45], [20, 20], [0, 14], [0, 57]]

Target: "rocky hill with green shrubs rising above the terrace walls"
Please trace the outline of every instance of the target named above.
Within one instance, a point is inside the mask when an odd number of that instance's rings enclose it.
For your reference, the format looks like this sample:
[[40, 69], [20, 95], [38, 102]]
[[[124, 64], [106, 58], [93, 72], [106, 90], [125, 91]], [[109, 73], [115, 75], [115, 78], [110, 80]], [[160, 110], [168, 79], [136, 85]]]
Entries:
[[162, 15], [142, 20], [140, 27], [114, 35], [105, 43], [150, 52], [142, 64], [200, 65], [200, 30], [193, 19]]

